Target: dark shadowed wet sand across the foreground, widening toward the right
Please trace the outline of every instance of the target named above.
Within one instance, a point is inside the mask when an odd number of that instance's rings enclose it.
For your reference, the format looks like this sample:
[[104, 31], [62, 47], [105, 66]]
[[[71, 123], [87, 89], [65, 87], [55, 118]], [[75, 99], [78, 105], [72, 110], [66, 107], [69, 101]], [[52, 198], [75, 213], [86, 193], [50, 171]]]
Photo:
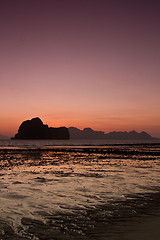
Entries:
[[150, 197], [148, 195], [145, 205], [142, 205], [143, 197], [140, 197], [113, 206], [115, 215], [110, 217], [100, 214], [107, 206], [89, 210], [84, 215], [80, 211], [77, 211], [77, 215], [48, 215], [45, 222], [22, 217], [18, 231], [14, 231], [9, 222], [0, 220], [0, 239], [159, 240], [159, 196], [158, 192]]

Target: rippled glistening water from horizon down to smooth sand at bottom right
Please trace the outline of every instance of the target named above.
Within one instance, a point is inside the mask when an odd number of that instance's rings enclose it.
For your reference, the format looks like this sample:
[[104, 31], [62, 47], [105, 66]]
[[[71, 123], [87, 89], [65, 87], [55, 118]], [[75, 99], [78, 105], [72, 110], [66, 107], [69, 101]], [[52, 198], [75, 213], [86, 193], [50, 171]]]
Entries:
[[158, 139], [0, 140], [1, 240], [121, 239], [159, 208]]

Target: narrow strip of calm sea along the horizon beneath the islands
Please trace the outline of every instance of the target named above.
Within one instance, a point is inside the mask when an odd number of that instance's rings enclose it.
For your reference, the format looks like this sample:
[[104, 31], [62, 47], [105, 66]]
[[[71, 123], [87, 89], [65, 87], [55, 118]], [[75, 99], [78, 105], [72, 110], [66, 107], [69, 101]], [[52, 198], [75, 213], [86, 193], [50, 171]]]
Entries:
[[0, 150], [160, 146], [159, 140], [0, 140]]

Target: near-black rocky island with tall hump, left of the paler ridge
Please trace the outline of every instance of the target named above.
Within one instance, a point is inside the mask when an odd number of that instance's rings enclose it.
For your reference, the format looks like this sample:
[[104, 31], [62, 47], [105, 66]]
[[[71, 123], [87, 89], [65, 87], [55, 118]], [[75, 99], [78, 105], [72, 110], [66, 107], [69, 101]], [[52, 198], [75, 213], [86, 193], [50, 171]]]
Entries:
[[69, 131], [66, 127], [53, 128], [44, 125], [38, 117], [22, 122], [18, 133], [12, 139], [55, 139], [68, 140]]

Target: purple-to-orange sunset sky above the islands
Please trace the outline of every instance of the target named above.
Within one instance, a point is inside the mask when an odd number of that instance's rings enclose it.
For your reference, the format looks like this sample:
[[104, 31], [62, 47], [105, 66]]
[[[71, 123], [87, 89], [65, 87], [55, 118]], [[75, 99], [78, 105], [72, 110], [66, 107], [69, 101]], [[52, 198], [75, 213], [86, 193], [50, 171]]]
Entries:
[[160, 137], [158, 0], [1, 0], [0, 134], [22, 121]]

